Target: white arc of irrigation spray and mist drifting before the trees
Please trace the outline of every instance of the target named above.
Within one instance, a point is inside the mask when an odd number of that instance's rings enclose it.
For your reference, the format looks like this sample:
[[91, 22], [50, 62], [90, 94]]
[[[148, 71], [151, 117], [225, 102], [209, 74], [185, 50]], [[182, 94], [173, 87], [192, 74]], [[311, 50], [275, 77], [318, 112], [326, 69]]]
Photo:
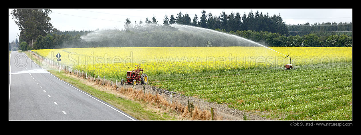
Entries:
[[257, 46], [222, 32], [188, 25], [153, 26], [138, 29], [98, 30], [81, 36], [90, 47], [182, 47]]

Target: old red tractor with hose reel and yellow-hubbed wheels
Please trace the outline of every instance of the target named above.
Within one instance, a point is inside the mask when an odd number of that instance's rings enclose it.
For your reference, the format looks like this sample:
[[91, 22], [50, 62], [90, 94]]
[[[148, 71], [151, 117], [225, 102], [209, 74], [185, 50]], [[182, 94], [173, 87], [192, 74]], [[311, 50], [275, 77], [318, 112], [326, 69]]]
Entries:
[[[129, 70], [129, 67], [128, 67]], [[124, 79], [121, 81], [121, 85], [128, 84], [147, 84], [148, 83], [148, 76], [147, 74], [143, 74], [143, 69], [140, 69], [138, 65], [133, 67], [133, 71], [127, 71], [127, 82]]]

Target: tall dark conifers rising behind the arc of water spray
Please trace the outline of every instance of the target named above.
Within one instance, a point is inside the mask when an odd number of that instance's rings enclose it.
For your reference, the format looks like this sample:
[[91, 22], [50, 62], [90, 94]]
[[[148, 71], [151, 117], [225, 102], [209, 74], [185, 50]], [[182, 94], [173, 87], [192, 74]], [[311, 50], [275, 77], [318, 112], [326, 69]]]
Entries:
[[[152, 17], [152, 21], [147, 21], [147, 24], [157, 24], [157, 20], [155, 19], [154, 15]], [[137, 24], [136, 22], [133, 24], [134, 27], [139, 27], [139, 24], [142, 24], [142, 20], [139, 21]], [[183, 25], [192, 25], [201, 28], [208, 28], [208, 29], [224, 29], [226, 32], [230, 31], [268, 31], [272, 33], [280, 33], [285, 36], [289, 36], [290, 33], [288, 32], [288, 26], [281, 15], [269, 15], [263, 14], [258, 10], [256, 13], [253, 13], [251, 10], [248, 15], [244, 12], [242, 15], [239, 12], [232, 12], [226, 14], [225, 11], [218, 16], [212, 13], [206, 13], [205, 10], [201, 12], [201, 16], [198, 18], [198, 15], [195, 14], [193, 19], [186, 13], [183, 14], [182, 11], [174, 16], [173, 14], [168, 17], [167, 14], [164, 16], [163, 25], [169, 24], [183, 24]], [[132, 28], [131, 21], [129, 19], [125, 22], [125, 29], [128, 30]]]

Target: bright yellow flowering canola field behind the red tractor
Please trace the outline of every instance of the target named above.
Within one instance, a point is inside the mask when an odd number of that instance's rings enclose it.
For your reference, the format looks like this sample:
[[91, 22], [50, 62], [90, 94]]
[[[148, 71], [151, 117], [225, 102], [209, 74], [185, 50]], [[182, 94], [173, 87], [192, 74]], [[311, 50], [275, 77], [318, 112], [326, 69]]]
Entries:
[[[32, 50], [61, 64], [91, 74], [123, 78], [139, 65], [147, 75], [188, 74], [214, 70], [297, 67], [352, 62], [350, 47], [105, 47]], [[277, 52], [276, 52], [277, 51]], [[279, 53], [278, 53], [279, 52]], [[282, 53], [282, 54], [281, 54]]]

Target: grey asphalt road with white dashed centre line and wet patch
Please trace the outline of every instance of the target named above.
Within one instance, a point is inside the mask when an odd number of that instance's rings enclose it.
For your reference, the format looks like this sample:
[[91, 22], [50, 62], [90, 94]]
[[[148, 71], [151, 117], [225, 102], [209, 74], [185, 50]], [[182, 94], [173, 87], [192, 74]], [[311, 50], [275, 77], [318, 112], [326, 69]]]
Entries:
[[136, 120], [68, 84], [25, 53], [10, 53], [9, 120]]

